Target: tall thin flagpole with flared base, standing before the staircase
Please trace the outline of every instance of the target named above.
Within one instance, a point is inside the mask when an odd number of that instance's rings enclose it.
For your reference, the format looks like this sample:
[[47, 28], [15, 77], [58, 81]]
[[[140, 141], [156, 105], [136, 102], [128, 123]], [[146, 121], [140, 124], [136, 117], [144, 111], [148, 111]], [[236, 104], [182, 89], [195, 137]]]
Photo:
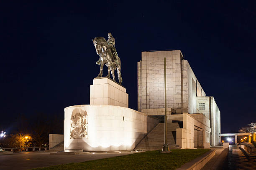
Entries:
[[167, 114], [166, 114], [166, 61], [164, 57], [164, 145], [162, 152], [170, 152], [169, 145], [167, 143]]

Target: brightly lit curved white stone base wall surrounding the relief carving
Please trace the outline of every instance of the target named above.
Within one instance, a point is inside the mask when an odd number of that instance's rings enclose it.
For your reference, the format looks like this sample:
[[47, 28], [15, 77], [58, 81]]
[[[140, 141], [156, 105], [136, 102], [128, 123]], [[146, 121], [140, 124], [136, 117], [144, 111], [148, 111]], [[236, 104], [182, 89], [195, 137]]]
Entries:
[[[136, 110], [111, 105], [76, 105], [66, 107], [64, 112], [65, 150], [132, 150], [159, 122]], [[70, 117], [74, 112], [88, 116], [86, 139], [70, 139]]]

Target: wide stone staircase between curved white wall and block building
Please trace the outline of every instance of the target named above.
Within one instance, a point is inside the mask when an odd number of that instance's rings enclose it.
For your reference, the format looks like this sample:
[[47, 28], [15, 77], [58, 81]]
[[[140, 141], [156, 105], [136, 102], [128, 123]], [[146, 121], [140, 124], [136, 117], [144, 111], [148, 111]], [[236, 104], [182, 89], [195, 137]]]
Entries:
[[[176, 129], [180, 128], [179, 123], [167, 124], [167, 142], [170, 149], [179, 149], [176, 146]], [[151, 130], [139, 143], [134, 150], [161, 150], [164, 144], [164, 123], [159, 123]]]

